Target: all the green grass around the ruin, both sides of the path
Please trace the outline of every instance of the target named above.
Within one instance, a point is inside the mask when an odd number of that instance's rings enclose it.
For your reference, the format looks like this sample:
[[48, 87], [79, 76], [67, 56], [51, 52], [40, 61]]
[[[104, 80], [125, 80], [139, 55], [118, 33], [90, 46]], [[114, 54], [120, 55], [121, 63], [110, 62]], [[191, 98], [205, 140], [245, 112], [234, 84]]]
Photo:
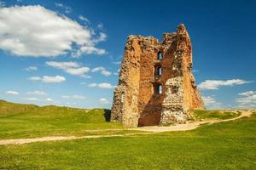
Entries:
[[[197, 119], [240, 113], [195, 111]], [[109, 111], [0, 101], [0, 139], [126, 133]], [[112, 131], [122, 128], [121, 131]], [[0, 169], [256, 169], [256, 115], [186, 132], [0, 145]]]

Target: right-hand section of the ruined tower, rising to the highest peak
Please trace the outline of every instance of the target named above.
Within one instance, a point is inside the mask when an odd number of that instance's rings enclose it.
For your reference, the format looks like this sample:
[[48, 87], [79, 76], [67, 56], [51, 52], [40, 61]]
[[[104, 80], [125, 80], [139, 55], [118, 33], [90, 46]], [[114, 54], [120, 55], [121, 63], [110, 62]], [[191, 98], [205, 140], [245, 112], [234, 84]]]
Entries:
[[189, 34], [183, 25], [177, 27], [172, 76], [166, 81], [160, 125], [184, 123], [189, 109], [204, 108], [201, 95], [192, 75], [192, 48]]

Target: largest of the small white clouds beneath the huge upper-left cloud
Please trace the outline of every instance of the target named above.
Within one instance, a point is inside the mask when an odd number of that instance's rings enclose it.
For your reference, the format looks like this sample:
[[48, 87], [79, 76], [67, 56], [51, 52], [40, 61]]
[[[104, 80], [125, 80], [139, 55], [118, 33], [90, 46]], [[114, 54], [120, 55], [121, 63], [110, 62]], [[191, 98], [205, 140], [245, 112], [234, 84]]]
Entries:
[[47, 61], [46, 65], [52, 66], [56, 69], [61, 69], [62, 71], [67, 72], [70, 75], [80, 76], [84, 78], [90, 78], [90, 76], [85, 75], [85, 73], [90, 71], [89, 67], [82, 67], [77, 62], [56, 62], [56, 61]]

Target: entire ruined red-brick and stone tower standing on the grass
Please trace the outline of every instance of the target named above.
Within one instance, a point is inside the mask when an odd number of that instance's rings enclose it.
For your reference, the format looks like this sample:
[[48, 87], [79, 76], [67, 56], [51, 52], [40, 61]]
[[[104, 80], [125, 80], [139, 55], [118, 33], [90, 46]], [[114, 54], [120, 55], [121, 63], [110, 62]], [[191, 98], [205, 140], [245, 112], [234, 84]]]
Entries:
[[154, 37], [129, 36], [113, 94], [112, 122], [126, 127], [185, 123], [189, 109], [204, 109], [192, 69], [184, 25]]

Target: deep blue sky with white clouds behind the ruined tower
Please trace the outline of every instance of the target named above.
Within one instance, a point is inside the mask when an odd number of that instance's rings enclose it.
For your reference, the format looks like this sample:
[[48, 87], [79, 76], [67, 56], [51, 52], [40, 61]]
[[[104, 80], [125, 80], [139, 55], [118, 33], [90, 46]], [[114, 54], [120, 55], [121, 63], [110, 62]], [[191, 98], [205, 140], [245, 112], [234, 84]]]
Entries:
[[0, 2], [0, 99], [110, 108], [126, 37], [184, 23], [207, 108], [256, 107], [255, 1]]

